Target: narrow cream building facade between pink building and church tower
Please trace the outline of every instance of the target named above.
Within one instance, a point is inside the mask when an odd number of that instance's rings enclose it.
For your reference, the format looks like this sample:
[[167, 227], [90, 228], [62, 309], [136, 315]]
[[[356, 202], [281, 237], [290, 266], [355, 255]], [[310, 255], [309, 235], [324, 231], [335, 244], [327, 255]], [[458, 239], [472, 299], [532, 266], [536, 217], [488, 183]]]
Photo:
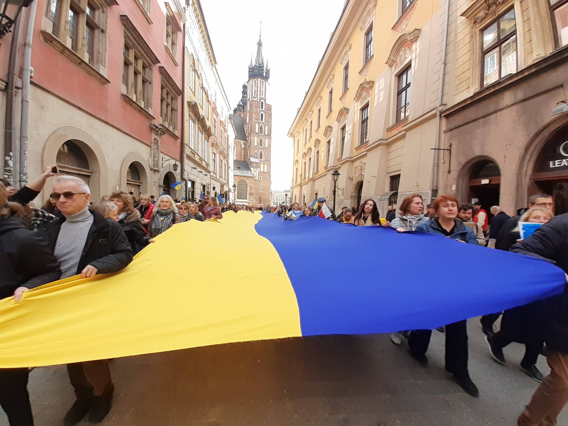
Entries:
[[205, 194], [229, 199], [229, 103], [199, 0], [187, 2], [185, 30], [182, 191], [189, 200]]

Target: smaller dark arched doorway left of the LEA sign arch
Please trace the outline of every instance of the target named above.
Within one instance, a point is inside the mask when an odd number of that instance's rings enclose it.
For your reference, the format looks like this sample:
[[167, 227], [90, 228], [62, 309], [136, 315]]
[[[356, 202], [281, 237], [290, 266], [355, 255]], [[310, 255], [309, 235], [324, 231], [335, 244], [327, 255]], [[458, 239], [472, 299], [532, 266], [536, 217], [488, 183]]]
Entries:
[[482, 207], [489, 214], [491, 206], [498, 206], [501, 191], [501, 170], [495, 161], [482, 158], [471, 164], [469, 168], [469, 182], [467, 201], [481, 202]]

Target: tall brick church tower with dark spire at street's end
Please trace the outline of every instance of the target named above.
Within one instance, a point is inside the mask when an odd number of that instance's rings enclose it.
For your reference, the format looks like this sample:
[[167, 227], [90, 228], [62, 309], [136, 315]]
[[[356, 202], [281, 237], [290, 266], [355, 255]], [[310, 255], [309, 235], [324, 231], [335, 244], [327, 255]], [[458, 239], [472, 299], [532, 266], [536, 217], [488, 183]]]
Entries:
[[[258, 36], [254, 64], [248, 68], [248, 81], [243, 85], [242, 98], [233, 110], [231, 122], [235, 126], [235, 182], [237, 202], [270, 204], [270, 148], [272, 147], [272, 105], [266, 102], [270, 69], [262, 57], [262, 39]], [[244, 127], [246, 141], [239, 137]], [[241, 128], [242, 128], [241, 127]], [[246, 189], [245, 189], [246, 185]]]

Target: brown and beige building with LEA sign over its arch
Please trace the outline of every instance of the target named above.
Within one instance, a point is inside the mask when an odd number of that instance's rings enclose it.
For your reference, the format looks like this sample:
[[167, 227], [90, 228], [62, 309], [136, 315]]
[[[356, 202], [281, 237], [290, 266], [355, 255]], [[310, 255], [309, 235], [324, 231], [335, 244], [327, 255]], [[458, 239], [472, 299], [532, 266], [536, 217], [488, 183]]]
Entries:
[[458, 1], [456, 40], [441, 190], [510, 215], [566, 194], [568, 1]]

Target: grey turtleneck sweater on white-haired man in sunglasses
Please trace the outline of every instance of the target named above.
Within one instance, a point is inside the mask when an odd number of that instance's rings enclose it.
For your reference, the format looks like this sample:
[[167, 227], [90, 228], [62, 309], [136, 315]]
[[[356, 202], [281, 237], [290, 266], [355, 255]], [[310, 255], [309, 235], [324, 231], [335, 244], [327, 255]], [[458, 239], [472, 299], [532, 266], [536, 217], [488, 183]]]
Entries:
[[55, 257], [61, 267], [61, 278], [77, 274], [81, 253], [87, 241], [94, 216], [88, 207], [74, 215], [65, 215], [65, 222], [55, 243]]

